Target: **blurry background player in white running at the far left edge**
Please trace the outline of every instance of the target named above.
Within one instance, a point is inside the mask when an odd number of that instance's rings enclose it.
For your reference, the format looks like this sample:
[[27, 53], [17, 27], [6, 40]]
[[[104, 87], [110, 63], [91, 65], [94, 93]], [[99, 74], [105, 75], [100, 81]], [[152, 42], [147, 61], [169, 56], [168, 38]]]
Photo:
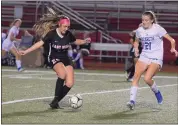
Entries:
[[7, 38], [3, 41], [2, 44], [2, 57], [6, 55], [7, 52], [11, 52], [16, 58], [16, 66], [18, 71], [23, 71], [21, 66], [21, 55], [18, 53], [17, 48], [14, 45], [14, 42], [21, 42], [21, 39], [17, 39], [16, 36], [19, 34], [19, 28], [21, 26], [22, 20], [15, 19], [11, 28], [8, 31]]

